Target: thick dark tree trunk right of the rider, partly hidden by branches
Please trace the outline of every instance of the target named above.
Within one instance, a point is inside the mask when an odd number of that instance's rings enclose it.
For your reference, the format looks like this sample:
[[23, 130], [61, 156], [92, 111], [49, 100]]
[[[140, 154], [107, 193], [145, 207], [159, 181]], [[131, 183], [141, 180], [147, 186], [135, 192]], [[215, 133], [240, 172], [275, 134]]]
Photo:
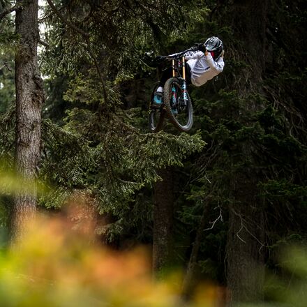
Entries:
[[[242, 68], [237, 83], [240, 96], [247, 98], [262, 93], [261, 81], [268, 56], [266, 27], [268, 0], [234, 0], [230, 7], [229, 24], [232, 24], [239, 59], [248, 63]], [[244, 76], [244, 77], [241, 77]], [[260, 110], [259, 103], [248, 98], [246, 114]], [[241, 114], [238, 114], [241, 117]], [[257, 183], [260, 174], [253, 165], [253, 142], [241, 144], [240, 163], [245, 165], [232, 178], [233, 203], [230, 205], [227, 234], [227, 286], [233, 302], [262, 299], [264, 283], [264, 213], [259, 201]], [[237, 155], [238, 157], [238, 155]], [[237, 158], [234, 158], [237, 159]], [[238, 161], [234, 160], [234, 164]]]

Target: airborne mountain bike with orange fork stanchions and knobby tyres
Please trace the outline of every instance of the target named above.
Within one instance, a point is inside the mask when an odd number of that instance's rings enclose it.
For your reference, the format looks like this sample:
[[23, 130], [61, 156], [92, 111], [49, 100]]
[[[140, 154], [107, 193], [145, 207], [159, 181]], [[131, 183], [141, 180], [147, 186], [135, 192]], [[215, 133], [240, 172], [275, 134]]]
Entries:
[[188, 131], [193, 126], [193, 105], [186, 88], [187, 64], [184, 54], [188, 51], [195, 51], [195, 47], [162, 57], [162, 61], [172, 61], [172, 77], [164, 84], [161, 105], [153, 103], [158, 84], [153, 88], [149, 103], [149, 130], [153, 133], [163, 129], [165, 117], [180, 131]]

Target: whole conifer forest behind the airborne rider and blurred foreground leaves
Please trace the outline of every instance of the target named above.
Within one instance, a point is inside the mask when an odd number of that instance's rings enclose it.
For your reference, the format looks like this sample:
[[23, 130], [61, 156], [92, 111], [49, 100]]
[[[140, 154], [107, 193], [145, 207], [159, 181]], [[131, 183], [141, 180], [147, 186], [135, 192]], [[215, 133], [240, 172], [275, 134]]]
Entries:
[[[3, 259], [40, 211], [90, 221], [114, 250], [148, 246], [156, 278], [184, 272], [186, 299], [210, 280], [220, 304], [304, 306], [305, 1], [40, 4], [37, 19], [36, 0], [0, 1]], [[225, 69], [188, 89], [193, 129], [149, 133], [151, 61], [209, 36]]]

